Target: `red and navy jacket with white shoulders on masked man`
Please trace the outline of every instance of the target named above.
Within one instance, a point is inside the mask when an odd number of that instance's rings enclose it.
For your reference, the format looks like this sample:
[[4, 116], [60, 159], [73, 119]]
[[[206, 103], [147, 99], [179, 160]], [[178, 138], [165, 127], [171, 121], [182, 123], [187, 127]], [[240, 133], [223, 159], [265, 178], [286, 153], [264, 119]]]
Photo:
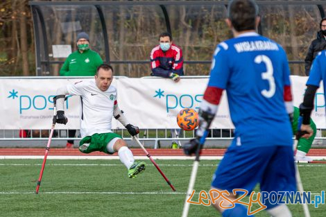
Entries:
[[151, 51], [151, 69], [151, 76], [169, 78], [171, 72], [183, 76], [182, 50], [175, 44], [165, 52], [160, 45], [155, 46]]

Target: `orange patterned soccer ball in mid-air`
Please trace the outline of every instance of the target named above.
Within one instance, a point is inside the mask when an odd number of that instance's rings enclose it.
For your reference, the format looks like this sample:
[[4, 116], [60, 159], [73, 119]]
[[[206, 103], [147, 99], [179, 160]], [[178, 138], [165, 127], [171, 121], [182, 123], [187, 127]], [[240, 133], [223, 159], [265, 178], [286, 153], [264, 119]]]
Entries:
[[185, 108], [178, 113], [177, 123], [183, 130], [194, 130], [199, 123], [198, 113], [191, 108]]

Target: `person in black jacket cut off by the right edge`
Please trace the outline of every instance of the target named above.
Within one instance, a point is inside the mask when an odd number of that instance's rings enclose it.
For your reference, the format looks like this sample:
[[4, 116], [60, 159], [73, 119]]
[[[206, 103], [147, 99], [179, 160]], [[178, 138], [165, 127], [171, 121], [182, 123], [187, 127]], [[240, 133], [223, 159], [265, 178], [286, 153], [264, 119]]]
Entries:
[[311, 42], [307, 56], [304, 59], [306, 76], [309, 76], [310, 67], [316, 55], [318, 55], [320, 51], [326, 50], [326, 17], [320, 20], [319, 28], [320, 31], [317, 33], [317, 38]]

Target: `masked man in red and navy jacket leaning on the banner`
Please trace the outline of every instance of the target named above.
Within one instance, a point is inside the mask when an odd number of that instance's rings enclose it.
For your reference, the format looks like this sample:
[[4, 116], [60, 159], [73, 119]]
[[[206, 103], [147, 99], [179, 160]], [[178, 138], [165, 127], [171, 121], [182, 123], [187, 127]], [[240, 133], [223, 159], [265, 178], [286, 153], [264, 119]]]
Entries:
[[151, 76], [171, 78], [174, 82], [183, 76], [182, 50], [172, 42], [170, 33], [161, 33], [151, 52]]

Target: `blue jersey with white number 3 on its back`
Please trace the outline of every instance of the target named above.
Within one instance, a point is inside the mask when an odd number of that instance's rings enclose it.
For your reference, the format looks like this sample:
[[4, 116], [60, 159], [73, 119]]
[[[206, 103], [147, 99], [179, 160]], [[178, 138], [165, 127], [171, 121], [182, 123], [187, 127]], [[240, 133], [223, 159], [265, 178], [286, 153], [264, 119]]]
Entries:
[[284, 87], [291, 87], [289, 75], [282, 47], [257, 33], [218, 44], [208, 87], [226, 90], [236, 129], [232, 145], [292, 146], [284, 105]]

